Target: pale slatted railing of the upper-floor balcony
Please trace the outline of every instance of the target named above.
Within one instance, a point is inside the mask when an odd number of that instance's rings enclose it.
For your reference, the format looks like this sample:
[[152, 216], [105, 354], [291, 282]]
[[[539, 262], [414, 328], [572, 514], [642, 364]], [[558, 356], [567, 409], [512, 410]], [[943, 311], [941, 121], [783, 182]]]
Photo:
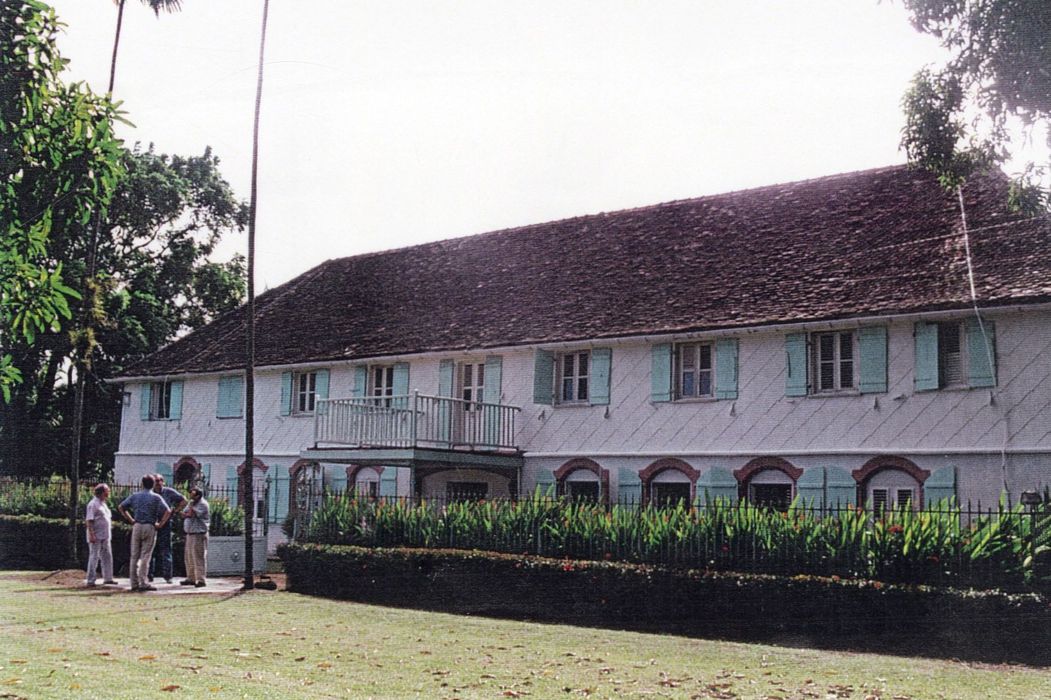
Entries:
[[515, 406], [415, 392], [318, 399], [314, 444], [515, 450]]

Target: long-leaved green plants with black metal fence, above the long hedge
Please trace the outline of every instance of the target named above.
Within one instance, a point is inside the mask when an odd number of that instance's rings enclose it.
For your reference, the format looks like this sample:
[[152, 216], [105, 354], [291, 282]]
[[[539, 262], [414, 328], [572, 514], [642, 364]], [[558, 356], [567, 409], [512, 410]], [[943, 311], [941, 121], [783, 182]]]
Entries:
[[474, 549], [583, 560], [936, 585], [1046, 585], [1051, 510], [943, 502], [785, 511], [563, 498], [457, 500], [329, 492], [303, 538], [372, 547]]

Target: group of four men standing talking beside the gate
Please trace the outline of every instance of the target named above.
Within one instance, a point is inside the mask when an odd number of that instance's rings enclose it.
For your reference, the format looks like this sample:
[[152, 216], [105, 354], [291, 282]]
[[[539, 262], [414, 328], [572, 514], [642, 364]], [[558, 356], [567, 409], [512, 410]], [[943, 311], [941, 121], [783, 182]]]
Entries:
[[[160, 474], [142, 477], [142, 490], [138, 491], [117, 507], [117, 511], [131, 523], [131, 560], [128, 573], [132, 591], [156, 591], [153, 577], [160, 576], [166, 583], [172, 579], [171, 558], [171, 516], [179, 513], [183, 517], [183, 532], [186, 537], [184, 559], [186, 578], [182, 585], [203, 588], [208, 576], [208, 526], [211, 515], [208, 501], [199, 487], [189, 490], [189, 500], [176, 489], [164, 486]], [[87, 585], [97, 584], [98, 569], [102, 569], [103, 585], [117, 585], [114, 580], [114, 556], [110, 547], [112, 514], [106, 501], [109, 487], [100, 483], [95, 487], [95, 497], [87, 503], [84, 520], [87, 530]]]

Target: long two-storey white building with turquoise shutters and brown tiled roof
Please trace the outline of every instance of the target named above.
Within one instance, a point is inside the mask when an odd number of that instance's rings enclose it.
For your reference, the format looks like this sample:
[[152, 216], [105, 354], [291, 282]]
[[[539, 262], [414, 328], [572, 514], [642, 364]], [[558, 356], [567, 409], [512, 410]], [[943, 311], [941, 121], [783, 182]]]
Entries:
[[[255, 469], [783, 507], [1051, 483], [1051, 224], [891, 167], [329, 261], [260, 296]], [[972, 298], [969, 272], [973, 271]], [[116, 379], [117, 477], [233, 481], [244, 309]]]

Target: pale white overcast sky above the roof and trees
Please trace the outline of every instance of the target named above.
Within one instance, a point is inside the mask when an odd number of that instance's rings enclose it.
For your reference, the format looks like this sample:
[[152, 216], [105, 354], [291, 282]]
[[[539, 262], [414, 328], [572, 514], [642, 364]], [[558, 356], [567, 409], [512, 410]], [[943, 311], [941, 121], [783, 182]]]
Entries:
[[[104, 91], [110, 0], [54, 0]], [[262, 0], [127, 0], [129, 143], [206, 146], [247, 200]], [[271, 0], [257, 291], [332, 258], [904, 162], [943, 60], [888, 0]], [[230, 236], [221, 256], [246, 250]]]

